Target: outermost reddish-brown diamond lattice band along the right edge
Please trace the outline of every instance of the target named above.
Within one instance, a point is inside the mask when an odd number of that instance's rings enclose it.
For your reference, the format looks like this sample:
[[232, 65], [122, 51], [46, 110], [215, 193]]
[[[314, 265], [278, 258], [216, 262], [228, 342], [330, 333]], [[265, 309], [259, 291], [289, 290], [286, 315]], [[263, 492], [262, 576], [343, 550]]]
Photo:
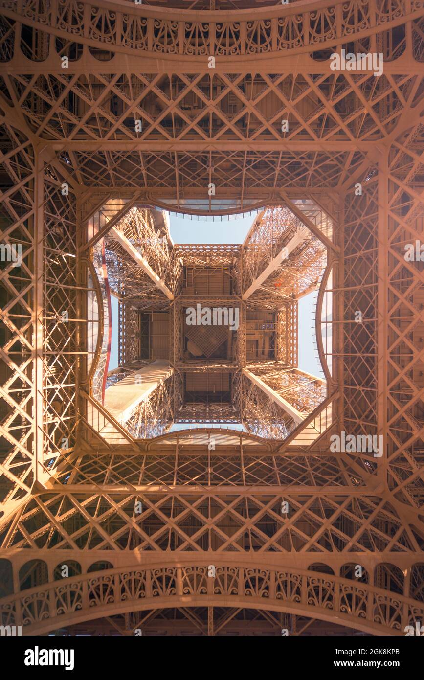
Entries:
[[[422, 139], [422, 124], [408, 129], [402, 143], [391, 146], [384, 170], [389, 224], [385, 242], [388, 324], [382, 329], [389, 364], [383, 383], [388, 483], [396, 498], [417, 509], [424, 499], [424, 199], [423, 165], [414, 148]], [[410, 261], [407, 252], [412, 248]]]

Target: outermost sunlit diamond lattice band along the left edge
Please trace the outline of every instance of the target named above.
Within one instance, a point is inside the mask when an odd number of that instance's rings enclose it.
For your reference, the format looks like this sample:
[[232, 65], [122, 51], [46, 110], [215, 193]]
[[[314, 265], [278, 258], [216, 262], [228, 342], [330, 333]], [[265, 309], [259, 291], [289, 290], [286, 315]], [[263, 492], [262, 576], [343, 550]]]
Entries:
[[[39, 281], [35, 275], [35, 154], [27, 137], [12, 127], [3, 125], [1, 135], [3, 182], [9, 185], [9, 190], [0, 197], [3, 249], [0, 500], [4, 511], [29, 493], [35, 478], [38, 453], [35, 441], [39, 433], [33, 420], [37, 375], [33, 357], [35, 343], [42, 343], [42, 333], [40, 330], [37, 337], [33, 306], [42, 294], [42, 279]], [[42, 384], [37, 387], [41, 390]], [[41, 400], [39, 407], [42, 413]]]

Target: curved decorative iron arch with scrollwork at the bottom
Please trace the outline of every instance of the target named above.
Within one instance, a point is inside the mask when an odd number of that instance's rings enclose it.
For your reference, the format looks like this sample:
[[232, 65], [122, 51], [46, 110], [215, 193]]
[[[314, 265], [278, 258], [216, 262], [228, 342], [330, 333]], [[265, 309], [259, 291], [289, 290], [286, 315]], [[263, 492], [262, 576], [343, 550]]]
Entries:
[[4, 624], [27, 635], [111, 615], [167, 607], [247, 607], [336, 621], [374, 635], [402, 635], [424, 605], [316, 571], [207, 564], [105, 569], [45, 583], [0, 600]]

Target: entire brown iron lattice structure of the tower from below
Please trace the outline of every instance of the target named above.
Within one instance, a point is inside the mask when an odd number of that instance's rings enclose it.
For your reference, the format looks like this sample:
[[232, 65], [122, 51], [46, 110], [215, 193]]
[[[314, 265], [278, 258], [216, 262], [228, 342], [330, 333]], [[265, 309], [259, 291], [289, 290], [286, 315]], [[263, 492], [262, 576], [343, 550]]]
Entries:
[[[1, 242], [22, 247], [1, 269], [3, 624], [404, 634], [424, 615], [424, 273], [404, 257], [423, 238], [423, 2], [184, 7], [1, 2]], [[383, 75], [332, 71], [342, 49], [383, 54]], [[155, 207], [268, 214], [243, 246], [174, 248]], [[169, 315], [172, 375], [132, 432], [99, 385], [93, 396], [102, 239], [124, 295], [123, 373], [147, 327], [137, 315]], [[325, 395], [296, 374], [293, 262], [318, 291]], [[241, 315], [232, 351], [209, 361], [181, 340], [196, 300], [181, 267], [205, 265], [233, 268]], [[260, 309], [276, 314], [268, 363], [247, 356]], [[189, 374], [222, 373], [247, 433], [207, 426], [234, 409], [186, 401]], [[205, 426], [169, 432], [194, 413]], [[332, 453], [342, 430], [382, 435], [383, 456]]]

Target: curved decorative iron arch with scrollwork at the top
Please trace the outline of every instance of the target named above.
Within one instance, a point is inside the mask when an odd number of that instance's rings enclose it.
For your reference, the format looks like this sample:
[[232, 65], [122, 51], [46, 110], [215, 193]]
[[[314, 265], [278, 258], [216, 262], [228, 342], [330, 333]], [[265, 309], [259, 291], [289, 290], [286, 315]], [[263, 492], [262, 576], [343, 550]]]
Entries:
[[[289, 3], [237, 12], [217, 10], [213, 18], [207, 10], [162, 9], [143, 4], [120, 10], [105, 0], [67, 4], [66, 12], [63, 7], [58, 12], [56, 5], [43, 3], [35, 8], [33, 3], [24, 3], [18, 11], [3, 9], [7, 20], [20, 22], [31, 31], [23, 40], [29, 60], [40, 60], [40, 50], [48, 49], [42, 45], [38, 50], [31, 48], [38, 36], [48, 32], [56, 35], [56, 50], [63, 52], [70, 46], [75, 54], [75, 44], [88, 46], [93, 59], [100, 61], [137, 50], [167, 60], [179, 54], [190, 56], [194, 63], [208, 54], [223, 61], [238, 56], [264, 61], [288, 51], [309, 54], [312, 62], [324, 61], [335, 46], [354, 44], [364, 51], [370, 35], [383, 33], [382, 50], [389, 61], [404, 54], [405, 22], [421, 16], [419, 2], [412, 1], [407, 8], [399, 0], [364, 1], [359, 14], [355, 0], [328, 0], [306, 3], [301, 9]], [[13, 37], [9, 40], [13, 42]]]

